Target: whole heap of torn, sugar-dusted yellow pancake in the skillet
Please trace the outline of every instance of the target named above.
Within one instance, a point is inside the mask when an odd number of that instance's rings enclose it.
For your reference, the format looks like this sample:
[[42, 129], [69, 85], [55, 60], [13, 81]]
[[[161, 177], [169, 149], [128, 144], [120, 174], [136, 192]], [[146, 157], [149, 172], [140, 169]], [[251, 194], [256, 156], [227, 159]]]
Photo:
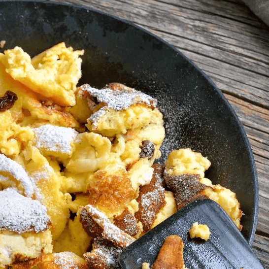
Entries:
[[[157, 100], [126, 85], [78, 85], [83, 50], [0, 53], [0, 269], [117, 269], [122, 250], [197, 199], [241, 229], [210, 161], [165, 138]], [[91, 83], [91, 81], [89, 81]], [[187, 191], [188, 190], [188, 191]]]

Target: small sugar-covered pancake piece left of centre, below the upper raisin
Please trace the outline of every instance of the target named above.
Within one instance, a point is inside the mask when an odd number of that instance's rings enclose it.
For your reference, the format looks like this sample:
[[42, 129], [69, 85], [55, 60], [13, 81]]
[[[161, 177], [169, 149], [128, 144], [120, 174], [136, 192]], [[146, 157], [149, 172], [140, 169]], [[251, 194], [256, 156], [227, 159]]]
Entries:
[[71, 143], [79, 134], [72, 128], [54, 125], [43, 125], [34, 128], [35, 145], [38, 149], [71, 154]]

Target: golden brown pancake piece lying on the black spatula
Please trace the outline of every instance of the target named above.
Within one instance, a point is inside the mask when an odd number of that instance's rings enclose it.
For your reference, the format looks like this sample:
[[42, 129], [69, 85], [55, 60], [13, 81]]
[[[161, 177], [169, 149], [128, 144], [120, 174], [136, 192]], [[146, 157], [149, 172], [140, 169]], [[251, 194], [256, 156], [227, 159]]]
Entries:
[[184, 269], [183, 246], [178, 235], [166, 237], [152, 269]]

